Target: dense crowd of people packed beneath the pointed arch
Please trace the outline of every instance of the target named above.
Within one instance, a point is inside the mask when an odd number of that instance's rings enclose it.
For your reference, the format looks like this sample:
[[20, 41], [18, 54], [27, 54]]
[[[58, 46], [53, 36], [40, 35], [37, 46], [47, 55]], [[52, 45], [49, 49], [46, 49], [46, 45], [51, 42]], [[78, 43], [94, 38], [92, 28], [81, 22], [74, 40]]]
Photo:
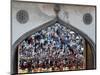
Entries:
[[18, 68], [26, 73], [85, 69], [84, 39], [55, 23], [18, 45]]

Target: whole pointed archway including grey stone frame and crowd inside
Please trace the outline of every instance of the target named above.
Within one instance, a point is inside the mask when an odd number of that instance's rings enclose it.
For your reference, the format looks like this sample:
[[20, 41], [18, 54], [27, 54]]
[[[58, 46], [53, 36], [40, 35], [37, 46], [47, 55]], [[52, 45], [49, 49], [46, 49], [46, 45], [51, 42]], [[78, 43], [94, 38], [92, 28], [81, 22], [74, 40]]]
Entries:
[[95, 44], [58, 18], [25, 33], [15, 42], [13, 50], [14, 73], [95, 68]]

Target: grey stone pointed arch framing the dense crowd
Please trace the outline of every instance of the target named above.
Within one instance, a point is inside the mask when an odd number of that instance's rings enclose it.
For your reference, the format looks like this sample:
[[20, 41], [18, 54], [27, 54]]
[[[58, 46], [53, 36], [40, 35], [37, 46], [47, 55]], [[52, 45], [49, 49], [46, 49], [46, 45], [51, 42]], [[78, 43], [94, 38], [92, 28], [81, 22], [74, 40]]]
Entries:
[[[18, 73], [18, 70], [17, 70], [17, 63], [18, 63], [18, 51], [16, 50], [18, 44], [20, 42], [22, 42], [25, 38], [27, 38], [28, 36], [32, 35], [33, 33], [43, 29], [43, 28], [46, 28], [52, 24], [54, 24], [55, 22], [59, 22], [60, 24], [64, 25], [65, 27], [75, 31], [75, 32], [78, 32], [87, 42], [88, 44], [90, 45], [90, 48], [91, 48], [91, 58], [89, 59], [86, 59], [86, 69], [95, 69], [96, 68], [96, 45], [95, 43], [86, 35], [84, 34], [82, 31], [80, 31], [79, 29], [73, 27], [72, 25], [68, 24], [68, 23], [65, 23], [64, 21], [62, 21], [61, 19], [59, 18], [55, 18], [35, 29], [32, 29], [30, 30], [29, 32], [23, 34], [13, 45], [12, 45], [12, 67], [11, 67], [11, 72], [12, 74], [15, 74], [15, 73]], [[89, 55], [89, 54], [88, 54]], [[86, 57], [88, 58], [88, 56]], [[89, 62], [90, 61], [90, 62]]]

